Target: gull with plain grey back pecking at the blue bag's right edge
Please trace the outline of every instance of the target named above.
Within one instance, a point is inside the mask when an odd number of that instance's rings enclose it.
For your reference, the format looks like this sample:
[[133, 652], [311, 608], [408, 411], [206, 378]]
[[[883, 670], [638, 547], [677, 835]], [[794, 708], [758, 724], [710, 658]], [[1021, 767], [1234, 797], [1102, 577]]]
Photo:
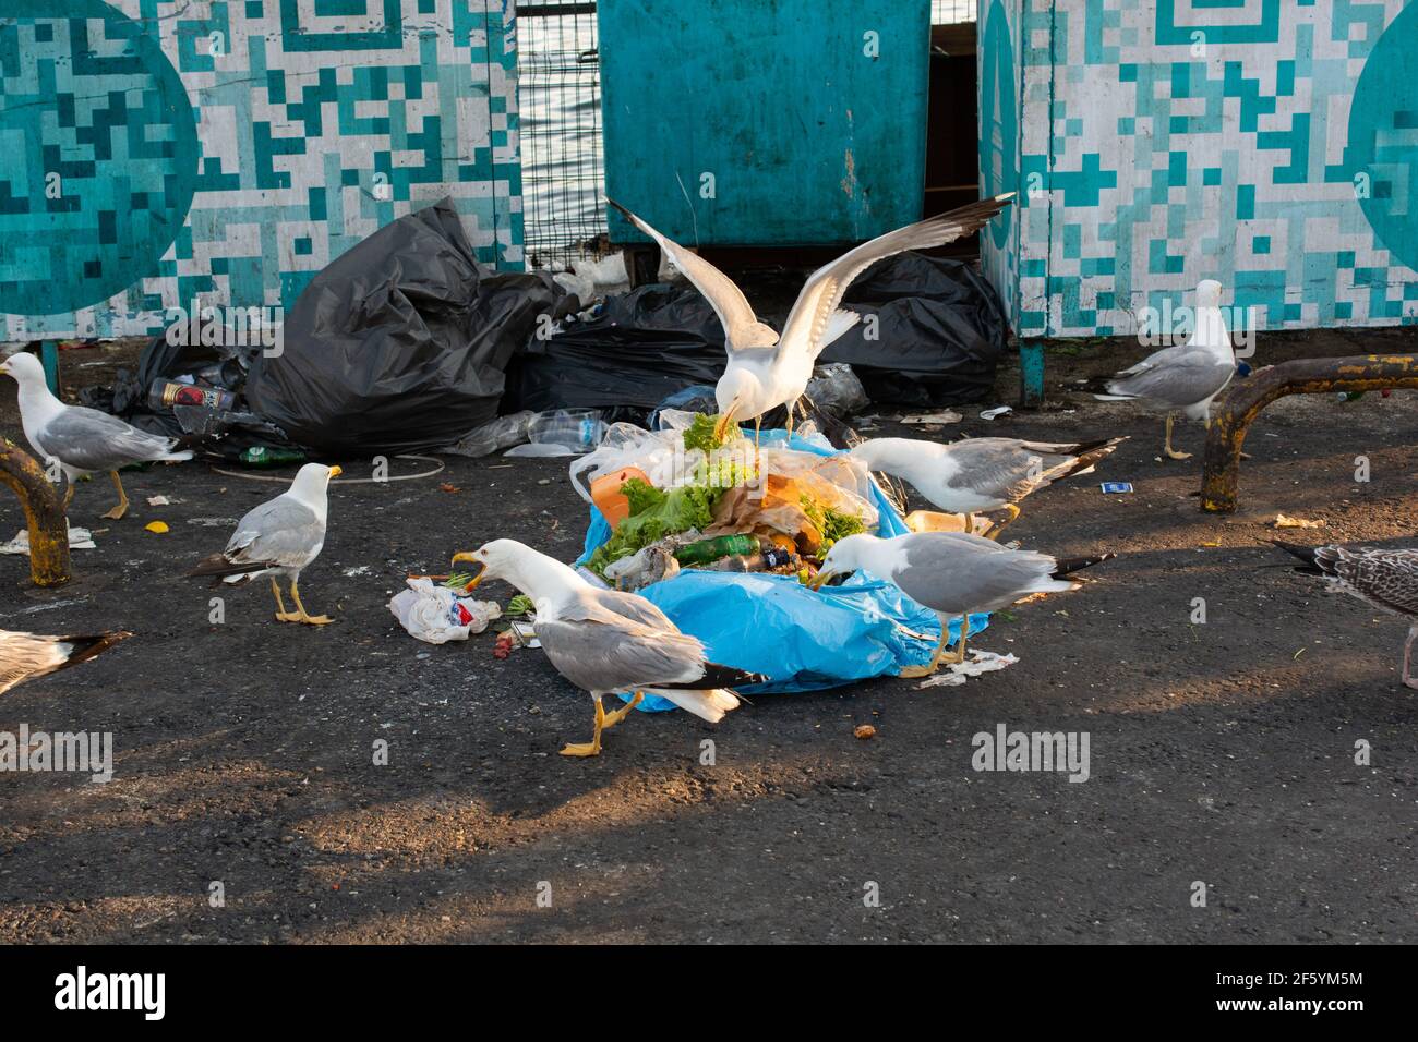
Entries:
[[964, 532], [916, 532], [895, 539], [855, 534], [839, 539], [822, 559], [814, 588], [848, 571], [868, 571], [900, 587], [917, 604], [940, 617], [940, 642], [930, 662], [909, 666], [898, 676], [929, 676], [944, 659], [950, 620], [960, 617], [960, 641], [950, 662], [966, 661], [970, 614], [997, 611], [1039, 594], [1078, 590], [1071, 573], [1113, 557], [1049, 557], [1032, 550], [1010, 550]]

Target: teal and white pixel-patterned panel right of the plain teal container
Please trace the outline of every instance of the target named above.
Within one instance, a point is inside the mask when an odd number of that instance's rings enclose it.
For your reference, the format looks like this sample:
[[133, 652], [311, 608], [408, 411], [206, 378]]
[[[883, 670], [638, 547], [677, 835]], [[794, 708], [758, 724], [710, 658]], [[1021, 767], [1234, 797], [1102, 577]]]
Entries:
[[1021, 336], [1219, 279], [1261, 329], [1418, 322], [1418, 0], [981, 0], [983, 240]]

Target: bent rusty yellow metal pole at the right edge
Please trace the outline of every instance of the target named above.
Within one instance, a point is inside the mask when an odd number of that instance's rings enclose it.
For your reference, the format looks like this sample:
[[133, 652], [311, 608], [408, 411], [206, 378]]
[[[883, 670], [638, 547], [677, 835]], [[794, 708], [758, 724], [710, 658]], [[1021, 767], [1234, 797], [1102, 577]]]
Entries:
[[1378, 391], [1385, 387], [1418, 388], [1418, 356], [1295, 359], [1234, 383], [1211, 413], [1202, 459], [1201, 509], [1208, 513], [1231, 513], [1236, 509], [1241, 447], [1251, 421], [1276, 398], [1288, 394]]

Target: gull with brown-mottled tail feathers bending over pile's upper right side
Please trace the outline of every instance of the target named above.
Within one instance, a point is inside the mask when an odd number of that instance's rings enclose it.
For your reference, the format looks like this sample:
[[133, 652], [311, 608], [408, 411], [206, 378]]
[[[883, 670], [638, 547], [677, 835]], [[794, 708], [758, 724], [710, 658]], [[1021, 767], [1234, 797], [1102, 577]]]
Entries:
[[1020, 516], [1015, 503], [1059, 478], [1092, 474], [1098, 461], [1124, 441], [966, 438], [942, 445], [915, 438], [871, 438], [854, 445], [849, 455], [872, 471], [909, 481], [937, 509], [963, 513], [966, 532], [973, 530], [976, 513], [1008, 510], [1008, 517], [987, 533], [988, 539], [998, 539]]

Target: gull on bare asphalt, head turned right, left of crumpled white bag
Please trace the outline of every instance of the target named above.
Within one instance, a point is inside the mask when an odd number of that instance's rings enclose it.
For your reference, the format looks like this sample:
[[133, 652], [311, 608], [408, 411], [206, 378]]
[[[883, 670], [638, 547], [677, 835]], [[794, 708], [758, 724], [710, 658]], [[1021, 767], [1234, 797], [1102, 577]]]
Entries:
[[[271, 576], [277, 621], [326, 625], [335, 620], [311, 615], [301, 604], [301, 571], [320, 556], [325, 546], [325, 519], [329, 508], [326, 486], [340, 474], [339, 466], [306, 464], [291, 488], [255, 508], [237, 523], [227, 549], [203, 560], [187, 573], [189, 578], [211, 576], [223, 583], [245, 583]], [[277, 576], [291, 580], [295, 611], [285, 610]]]

